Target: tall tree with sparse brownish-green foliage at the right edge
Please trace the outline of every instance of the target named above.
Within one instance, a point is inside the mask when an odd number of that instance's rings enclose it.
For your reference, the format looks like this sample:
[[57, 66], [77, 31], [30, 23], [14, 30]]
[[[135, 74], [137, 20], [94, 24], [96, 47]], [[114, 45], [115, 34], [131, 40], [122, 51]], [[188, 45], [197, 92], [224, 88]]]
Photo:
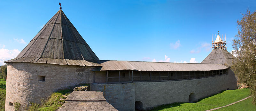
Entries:
[[250, 86], [252, 103], [256, 105], [256, 11], [247, 9], [241, 20], [237, 20], [237, 29], [232, 43], [235, 50], [233, 54], [237, 56], [237, 60], [231, 69], [239, 81]]

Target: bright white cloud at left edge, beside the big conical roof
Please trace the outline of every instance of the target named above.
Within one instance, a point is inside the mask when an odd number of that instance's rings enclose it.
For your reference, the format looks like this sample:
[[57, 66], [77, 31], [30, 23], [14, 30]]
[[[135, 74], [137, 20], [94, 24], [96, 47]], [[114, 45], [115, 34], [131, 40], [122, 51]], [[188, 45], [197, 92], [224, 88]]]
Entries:
[[0, 49], [0, 65], [4, 65], [4, 61], [10, 60], [18, 56], [20, 51], [18, 49], [8, 50]]

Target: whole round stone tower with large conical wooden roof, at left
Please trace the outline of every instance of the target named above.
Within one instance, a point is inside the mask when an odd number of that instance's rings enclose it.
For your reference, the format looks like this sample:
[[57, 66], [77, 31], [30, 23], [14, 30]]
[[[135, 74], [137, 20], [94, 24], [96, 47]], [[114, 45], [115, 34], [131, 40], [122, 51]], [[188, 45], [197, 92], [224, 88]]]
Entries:
[[60, 9], [8, 64], [5, 110], [41, 103], [52, 92], [92, 82], [98, 57]]

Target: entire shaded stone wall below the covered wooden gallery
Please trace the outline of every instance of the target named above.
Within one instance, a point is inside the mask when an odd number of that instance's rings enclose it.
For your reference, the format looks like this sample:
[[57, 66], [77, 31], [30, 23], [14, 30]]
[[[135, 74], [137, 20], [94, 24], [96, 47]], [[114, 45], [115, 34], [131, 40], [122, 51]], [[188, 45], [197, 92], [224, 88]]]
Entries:
[[235, 75], [230, 69], [227, 75], [200, 79], [91, 85], [91, 91], [102, 91], [107, 102], [120, 111], [134, 111], [135, 101], [141, 101], [148, 109], [174, 102], [189, 102], [190, 93], [195, 93], [198, 100], [227, 88], [237, 89]]

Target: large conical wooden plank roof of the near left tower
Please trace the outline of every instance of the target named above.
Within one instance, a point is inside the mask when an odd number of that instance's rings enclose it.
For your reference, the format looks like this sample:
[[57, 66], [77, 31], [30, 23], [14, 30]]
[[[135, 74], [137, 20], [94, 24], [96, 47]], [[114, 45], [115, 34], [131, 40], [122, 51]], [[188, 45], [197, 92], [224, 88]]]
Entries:
[[100, 66], [98, 57], [59, 10], [20, 54], [5, 62]]

